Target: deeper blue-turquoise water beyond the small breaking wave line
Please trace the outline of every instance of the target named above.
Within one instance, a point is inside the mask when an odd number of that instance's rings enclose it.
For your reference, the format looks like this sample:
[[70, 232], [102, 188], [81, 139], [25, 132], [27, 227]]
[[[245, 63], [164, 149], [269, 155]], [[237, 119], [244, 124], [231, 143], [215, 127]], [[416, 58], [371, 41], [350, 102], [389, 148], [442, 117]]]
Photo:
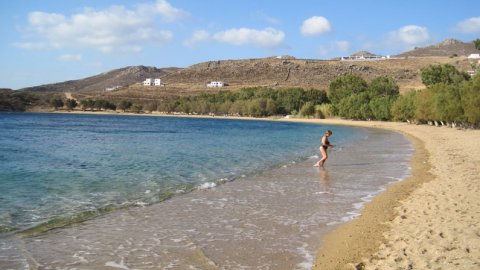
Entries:
[[[331, 127], [340, 145], [364, 136]], [[0, 114], [0, 228], [161, 201], [316, 154], [325, 127], [223, 119]]]

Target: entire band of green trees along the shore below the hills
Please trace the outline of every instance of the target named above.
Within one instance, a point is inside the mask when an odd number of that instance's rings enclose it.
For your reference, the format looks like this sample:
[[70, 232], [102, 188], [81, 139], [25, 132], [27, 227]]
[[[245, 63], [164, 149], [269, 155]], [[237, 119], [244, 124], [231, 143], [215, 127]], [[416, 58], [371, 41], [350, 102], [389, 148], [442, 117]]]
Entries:
[[24, 111], [28, 106], [48, 104], [56, 110], [74, 110], [80, 106], [82, 110], [135, 113], [339, 116], [358, 120], [480, 125], [480, 74], [471, 77], [449, 64], [430, 65], [421, 70], [421, 78], [425, 89], [410, 90], [403, 95], [391, 77], [379, 76], [367, 82], [355, 74], [337, 76], [329, 85], [328, 95], [319, 89], [248, 87], [148, 102], [83, 99], [77, 103], [59, 96], [46, 100], [35, 93], [3, 90], [0, 91], [0, 109]]

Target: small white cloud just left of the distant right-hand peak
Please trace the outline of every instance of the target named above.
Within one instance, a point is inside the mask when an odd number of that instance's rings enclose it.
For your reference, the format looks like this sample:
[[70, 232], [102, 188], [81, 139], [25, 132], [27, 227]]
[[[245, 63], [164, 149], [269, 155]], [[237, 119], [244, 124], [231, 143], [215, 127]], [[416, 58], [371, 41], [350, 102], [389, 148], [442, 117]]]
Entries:
[[387, 45], [401, 49], [411, 49], [430, 41], [428, 29], [417, 25], [406, 25], [388, 35]]

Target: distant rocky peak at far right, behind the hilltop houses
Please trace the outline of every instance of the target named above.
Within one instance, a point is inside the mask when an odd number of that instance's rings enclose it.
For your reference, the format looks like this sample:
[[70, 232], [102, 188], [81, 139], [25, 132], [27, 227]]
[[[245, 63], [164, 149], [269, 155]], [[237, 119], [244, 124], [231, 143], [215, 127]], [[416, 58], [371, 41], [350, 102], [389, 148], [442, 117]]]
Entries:
[[462, 42], [456, 39], [446, 39], [438, 44], [399, 54], [398, 57], [431, 57], [431, 56], [468, 56], [480, 53], [473, 42]]

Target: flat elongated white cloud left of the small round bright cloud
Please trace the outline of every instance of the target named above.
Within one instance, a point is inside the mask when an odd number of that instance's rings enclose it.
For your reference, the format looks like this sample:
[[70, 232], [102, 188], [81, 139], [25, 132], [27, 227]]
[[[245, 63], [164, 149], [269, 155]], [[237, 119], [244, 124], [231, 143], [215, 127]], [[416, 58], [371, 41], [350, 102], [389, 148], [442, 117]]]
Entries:
[[213, 39], [237, 46], [254, 45], [262, 48], [275, 48], [283, 43], [285, 33], [274, 28], [263, 30], [234, 28], [214, 34]]

